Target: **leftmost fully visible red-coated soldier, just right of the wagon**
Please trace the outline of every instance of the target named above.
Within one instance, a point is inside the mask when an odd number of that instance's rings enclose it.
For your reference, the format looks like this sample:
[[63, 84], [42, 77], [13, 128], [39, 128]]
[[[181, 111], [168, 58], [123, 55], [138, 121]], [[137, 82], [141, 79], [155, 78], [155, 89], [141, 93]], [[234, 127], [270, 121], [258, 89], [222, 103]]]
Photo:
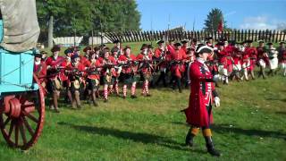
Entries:
[[59, 68], [64, 61], [63, 56], [60, 56], [61, 47], [55, 46], [51, 49], [52, 56], [46, 58], [46, 75], [48, 77], [47, 90], [52, 95], [50, 101], [50, 108], [55, 109], [59, 113], [57, 99], [60, 97], [60, 90], [62, 89], [61, 72]]

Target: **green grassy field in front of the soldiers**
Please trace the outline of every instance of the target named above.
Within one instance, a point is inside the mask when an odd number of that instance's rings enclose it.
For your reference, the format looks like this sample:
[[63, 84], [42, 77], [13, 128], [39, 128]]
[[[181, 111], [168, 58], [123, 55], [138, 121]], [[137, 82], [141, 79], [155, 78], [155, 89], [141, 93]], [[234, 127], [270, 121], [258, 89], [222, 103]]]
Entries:
[[[231, 82], [218, 91], [222, 102], [214, 109], [213, 134], [220, 159], [285, 160], [285, 78]], [[60, 114], [46, 110], [38, 143], [23, 152], [0, 137], [0, 160], [217, 159], [206, 153], [201, 135], [194, 148], [183, 144], [189, 128], [180, 110], [188, 106], [189, 89], [150, 92], [152, 97], [110, 97], [81, 110], [61, 104]]]

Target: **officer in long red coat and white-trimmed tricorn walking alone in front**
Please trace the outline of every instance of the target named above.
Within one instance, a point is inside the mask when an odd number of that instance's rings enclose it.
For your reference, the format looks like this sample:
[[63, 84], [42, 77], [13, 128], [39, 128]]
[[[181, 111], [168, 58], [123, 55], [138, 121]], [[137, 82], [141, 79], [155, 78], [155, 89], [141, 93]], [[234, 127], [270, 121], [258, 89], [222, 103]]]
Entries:
[[219, 157], [220, 153], [214, 149], [210, 124], [213, 122], [212, 104], [220, 106], [220, 98], [214, 89], [214, 81], [217, 79], [212, 75], [205, 64], [212, 48], [199, 45], [196, 50], [197, 60], [190, 65], [190, 90], [189, 107], [184, 110], [187, 123], [190, 125], [186, 136], [186, 144], [193, 146], [193, 139], [198, 134], [199, 128], [203, 130], [206, 140], [207, 152], [212, 156]]

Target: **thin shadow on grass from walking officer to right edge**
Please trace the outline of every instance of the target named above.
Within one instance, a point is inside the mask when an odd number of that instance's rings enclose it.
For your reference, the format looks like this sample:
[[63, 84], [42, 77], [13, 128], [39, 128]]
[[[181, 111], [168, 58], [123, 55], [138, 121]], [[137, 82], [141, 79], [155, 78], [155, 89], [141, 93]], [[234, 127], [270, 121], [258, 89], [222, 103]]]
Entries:
[[280, 131], [262, 131], [256, 129], [241, 129], [237, 127], [230, 127], [226, 124], [213, 124], [212, 129], [218, 133], [228, 133], [234, 132], [236, 134], [248, 135], [248, 136], [258, 136], [258, 137], [267, 137], [267, 138], [277, 138], [284, 139], [286, 138], [286, 134]]

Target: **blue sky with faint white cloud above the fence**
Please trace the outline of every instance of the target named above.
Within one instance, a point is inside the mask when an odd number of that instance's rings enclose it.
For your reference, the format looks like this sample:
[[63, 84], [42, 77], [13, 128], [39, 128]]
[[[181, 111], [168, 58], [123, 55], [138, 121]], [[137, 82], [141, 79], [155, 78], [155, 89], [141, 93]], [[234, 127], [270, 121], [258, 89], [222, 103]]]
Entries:
[[168, 24], [170, 29], [201, 30], [212, 8], [223, 11], [232, 29], [286, 28], [286, 0], [137, 0], [137, 4], [142, 30], [167, 30]]

